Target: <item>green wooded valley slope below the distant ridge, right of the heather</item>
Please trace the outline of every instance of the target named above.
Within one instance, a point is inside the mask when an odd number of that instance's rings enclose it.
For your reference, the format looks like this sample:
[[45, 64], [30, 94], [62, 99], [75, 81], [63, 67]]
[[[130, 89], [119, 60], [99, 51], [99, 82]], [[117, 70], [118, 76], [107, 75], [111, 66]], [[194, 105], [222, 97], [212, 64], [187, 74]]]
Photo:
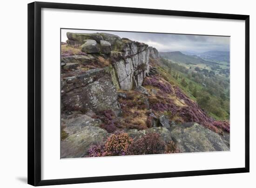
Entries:
[[229, 73], [222, 76], [216, 71], [201, 69], [181, 63], [172, 63], [161, 58], [160, 74], [182, 90], [204, 109], [209, 116], [217, 120], [229, 119]]

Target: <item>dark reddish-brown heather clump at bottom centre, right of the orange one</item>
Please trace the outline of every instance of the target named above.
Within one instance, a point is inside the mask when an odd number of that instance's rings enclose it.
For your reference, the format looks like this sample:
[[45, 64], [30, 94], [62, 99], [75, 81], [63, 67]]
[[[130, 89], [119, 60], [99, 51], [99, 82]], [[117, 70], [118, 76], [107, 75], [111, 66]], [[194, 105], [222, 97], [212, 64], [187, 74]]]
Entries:
[[158, 133], [148, 133], [128, 147], [128, 155], [147, 155], [164, 153], [165, 144]]

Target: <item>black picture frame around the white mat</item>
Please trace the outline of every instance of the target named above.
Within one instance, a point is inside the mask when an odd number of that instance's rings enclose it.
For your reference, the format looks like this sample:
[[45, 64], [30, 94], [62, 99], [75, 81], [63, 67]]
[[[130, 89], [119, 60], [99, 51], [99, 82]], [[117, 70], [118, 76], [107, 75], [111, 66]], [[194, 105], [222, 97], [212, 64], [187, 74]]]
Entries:
[[[211, 169], [151, 174], [130, 174], [41, 180], [41, 8], [140, 13], [151, 15], [185, 16], [245, 21], [245, 164], [243, 168]], [[28, 4], [28, 184], [33, 186], [60, 185], [88, 182], [110, 182], [195, 175], [216, 175], [249, 172], [249, 15], [202, 13], [145, 8], [94, 6], [49, 2]]]

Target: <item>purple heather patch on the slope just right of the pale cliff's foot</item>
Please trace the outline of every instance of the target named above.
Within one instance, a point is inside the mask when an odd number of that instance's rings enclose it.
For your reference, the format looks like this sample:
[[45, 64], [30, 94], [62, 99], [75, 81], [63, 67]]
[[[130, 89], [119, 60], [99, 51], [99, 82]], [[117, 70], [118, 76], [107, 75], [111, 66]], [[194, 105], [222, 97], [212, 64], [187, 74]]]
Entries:
[[160, 79], [156, 76], [146, 77], [142, 83], [143, 86], [155, 86], [159, 88], [162, 92], [171, 94], [173, 93], [172, 85], [167, 81], [162, 83]]

